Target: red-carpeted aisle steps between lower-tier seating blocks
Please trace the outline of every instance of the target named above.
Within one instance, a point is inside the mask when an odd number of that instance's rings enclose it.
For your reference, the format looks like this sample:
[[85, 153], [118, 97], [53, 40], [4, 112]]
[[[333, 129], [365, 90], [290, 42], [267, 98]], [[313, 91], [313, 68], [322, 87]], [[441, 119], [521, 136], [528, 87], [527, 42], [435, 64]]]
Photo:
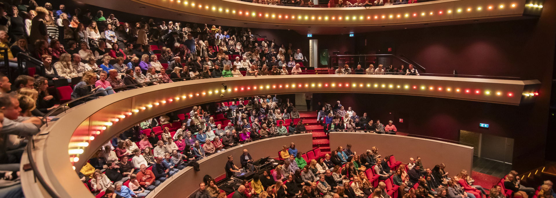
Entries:
[[313, 135], [313, 148], [319, 147], [322, 153], [330, 152], [328, 136], [324, 133], [324, 129], [319, 122], [316, 121], [316, 111], [300, 111], [300, 118], [305, 124], [305, 129]]

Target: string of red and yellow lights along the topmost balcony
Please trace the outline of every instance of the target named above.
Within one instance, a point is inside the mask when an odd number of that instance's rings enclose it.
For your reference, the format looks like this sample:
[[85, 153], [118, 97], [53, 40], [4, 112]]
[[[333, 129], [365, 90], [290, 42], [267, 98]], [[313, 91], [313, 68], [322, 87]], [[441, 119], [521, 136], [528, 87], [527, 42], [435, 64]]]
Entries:
[[[516, 3], [509, 4], [491, 4], [487, 6], [475, 7], [460, 7], [456, 9], [444, 9], [438, 11], [419, 11], [419, 12], [406, 12], [406, 13], [390, 13], [390, 14], [374, 14], [374, 15], [300, 15], [300, 14], [281, 14], [281, 13], [267, 13], [259, 11], [246, 11], [222, 8], [209, 4], [196, 3], [192, 1], [182, 0], [161, 0], [175, 2], [184, 8], [198, 8], [212, 12], [219, 12], [223, 15], [237, 15], [245, 18], [267, 18], [274, 20], [313, 20], [313, 21], [328, 21], [328, 20], [343, 20], [343, 21], [364, 21], [364, 20], [381, 20], [381, 19], [410, 19], [412, 17], [426, 17], [430, 15], [443, 15], [443, 14], [465, 14], [471, 12], [495, 11], [501, 9], [513, 9], [517, 7]], [[543, 8], [542, 5], [528, 3], [525, 4], [527, 8]]]

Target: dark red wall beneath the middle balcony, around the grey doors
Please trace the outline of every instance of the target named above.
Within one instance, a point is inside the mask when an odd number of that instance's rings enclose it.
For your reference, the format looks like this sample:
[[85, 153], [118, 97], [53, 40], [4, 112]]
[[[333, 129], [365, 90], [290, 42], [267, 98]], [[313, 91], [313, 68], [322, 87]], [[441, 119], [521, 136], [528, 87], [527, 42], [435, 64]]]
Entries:
[[[546, 132], [527, 123], [535, 113], [530, 106], [365, 93], [314, 93], [313, 98], [314, 105], [317, 102], [334, 105], [339, 100], [346, 110], [352, 107], [358, 116], [366, 112], [370, 119], [380, 119], [381, 123], [394, 121], [400, 132], [410, 134], [458, 141], [459, 130], [465, 130], [514, 138], [514, 169], [521, 172], [537, 168], [544, 159], [544, 142], [537, 137], [544, 137]], [[399, 118], [404, 119], [403, 123], [399, 123]], [[480, 128], [479, 123], [490, 127]]]

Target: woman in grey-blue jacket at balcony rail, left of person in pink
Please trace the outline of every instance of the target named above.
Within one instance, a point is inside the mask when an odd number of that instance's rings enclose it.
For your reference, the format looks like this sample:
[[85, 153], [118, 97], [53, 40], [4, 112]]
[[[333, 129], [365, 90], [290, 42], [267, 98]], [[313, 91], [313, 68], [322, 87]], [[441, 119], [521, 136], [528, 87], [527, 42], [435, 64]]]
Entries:
[[102, 87], [95, 87], [94, 84], [97, 81], [97, 75], [95, 75], [91, 71], [84, 72], [83, 78], [81, 80], [82, 80], [81, 82], [79, 82], [77, 85], [75, 85], [75, 87], [73, 87], [73, 92], [71, 93], [72, 100], [90, 95], [92, 93], [96, 93], [96, 94], [81, 98], [79, 101], [74, 102], [73, 105], [80, 105], [87, 101], [91, 101], [97, 97], [107, 96], [114, 93], [113, 90], [105, 91], [105, 89]]

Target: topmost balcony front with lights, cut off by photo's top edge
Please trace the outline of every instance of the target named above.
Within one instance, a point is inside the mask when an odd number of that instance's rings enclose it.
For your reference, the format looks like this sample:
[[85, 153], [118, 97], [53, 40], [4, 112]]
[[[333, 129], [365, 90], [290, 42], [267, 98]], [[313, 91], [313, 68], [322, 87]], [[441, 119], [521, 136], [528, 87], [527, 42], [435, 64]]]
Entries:
[[[537, 17], [542, 1], [439, 0], [374, 7], [295, 7], [237, 0], [82, 0], [95, 6], [171, 20], [313, 34], [371, 32]], [[340, 28], [339, 28], [340, 27]]]

